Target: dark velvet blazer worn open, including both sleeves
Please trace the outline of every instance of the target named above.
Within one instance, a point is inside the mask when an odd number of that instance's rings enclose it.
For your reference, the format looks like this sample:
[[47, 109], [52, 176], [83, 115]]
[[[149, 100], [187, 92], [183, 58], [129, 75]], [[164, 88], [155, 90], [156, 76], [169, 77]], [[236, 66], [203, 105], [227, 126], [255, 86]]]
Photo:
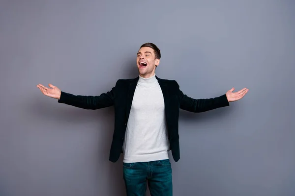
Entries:
[[[205, 112], [229, 106], [229, 102], [225, 94], [216, 98], [190, 98], [179, 90], [179, 85], [175, 80], [160, 79], [157, 76], [156, 78], [163, 92], [168, 138], [172, 156], [177, 162], [180, 158], [178, 135], [179, 108], [190, 112]], [[99, 96], [81, 96], [61, 92], [58, 101], [59, 103], [91, 110], [114, 106], [115, 130], [109, 157], [109, 160], [112, 162], [116, 162], [120, 153], [122, 153], [128, 117], [138, 79], [139, 77], [119, 79], [111, 91]]]

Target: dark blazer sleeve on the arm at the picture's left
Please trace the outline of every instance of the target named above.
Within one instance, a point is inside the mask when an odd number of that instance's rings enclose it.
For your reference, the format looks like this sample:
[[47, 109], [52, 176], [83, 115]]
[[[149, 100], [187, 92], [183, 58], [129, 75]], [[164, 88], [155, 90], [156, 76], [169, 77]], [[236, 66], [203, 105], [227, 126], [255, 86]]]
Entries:
[[103, 93], [99, 96], [82, 96], [72, 95], [69, 93], [61, 92], [59, 103], [65, 103], [75, 107], [96, 110], [114, 105], [116, 86], [111, 91]]

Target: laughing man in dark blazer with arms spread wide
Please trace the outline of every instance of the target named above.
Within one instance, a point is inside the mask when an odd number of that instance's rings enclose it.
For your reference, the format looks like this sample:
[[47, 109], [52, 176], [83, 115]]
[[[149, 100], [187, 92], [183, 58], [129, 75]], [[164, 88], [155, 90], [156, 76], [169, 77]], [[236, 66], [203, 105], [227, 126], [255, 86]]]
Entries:
[[155, 69], [160, 63], [160, 49], [143, 44], [137, 53], [139, 76], [119, 79], [114, 88], [100, 96], [76, 96], [49, 84], [37, 87], [59, 103], [85, 109], [115, 107], [115, 130], [110, 161], [123, 153], [123, 178], [128, 196], [144, 196], [147, 181], [151, 196], [172, 196], [172, 169], [168, 151], [179, 156], [179, 108], [205, 112], [225, 107], [242, 98], [248, 89], [234, 93], [234, 88], [217, 98], [194, 99], [184, 95], [175, 80], [160, 79]]

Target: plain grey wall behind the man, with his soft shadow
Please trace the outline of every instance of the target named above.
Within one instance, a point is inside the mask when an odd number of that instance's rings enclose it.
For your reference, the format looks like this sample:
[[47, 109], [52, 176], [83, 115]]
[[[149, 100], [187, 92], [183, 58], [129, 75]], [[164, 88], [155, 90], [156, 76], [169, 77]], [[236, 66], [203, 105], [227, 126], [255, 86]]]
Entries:
[[[124, 196], [108, 161], [113, 108], [59, 104], [36, 85], [99, 95], [156, 74], [193, 98], [250, 89], [230, 107], [181, 111], [175, 196], [295, 195], [295, 1], [1, 0], [0, 195]], [[171, 154], [170, 154], [171, 156]]]

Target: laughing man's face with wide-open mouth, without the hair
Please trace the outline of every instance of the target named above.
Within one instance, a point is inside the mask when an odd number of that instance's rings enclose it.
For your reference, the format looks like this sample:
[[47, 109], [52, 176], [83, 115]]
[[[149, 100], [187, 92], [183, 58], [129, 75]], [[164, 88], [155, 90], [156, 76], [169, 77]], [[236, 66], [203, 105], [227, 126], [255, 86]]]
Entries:
[[155, 58], [152, 48], [143, 47], [138, 50], [136, 62], [140, 76], [148, 78], [154, 75], [160, 59]]

